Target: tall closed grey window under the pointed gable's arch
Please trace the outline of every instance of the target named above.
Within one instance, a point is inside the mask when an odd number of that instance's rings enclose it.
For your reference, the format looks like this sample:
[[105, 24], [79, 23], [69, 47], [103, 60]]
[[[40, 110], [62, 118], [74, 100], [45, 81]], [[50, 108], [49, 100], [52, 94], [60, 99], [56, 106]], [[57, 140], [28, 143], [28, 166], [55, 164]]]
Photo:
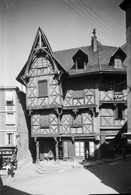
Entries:
[[47, 80], [38, 81], [38, 97], [47, 97]]

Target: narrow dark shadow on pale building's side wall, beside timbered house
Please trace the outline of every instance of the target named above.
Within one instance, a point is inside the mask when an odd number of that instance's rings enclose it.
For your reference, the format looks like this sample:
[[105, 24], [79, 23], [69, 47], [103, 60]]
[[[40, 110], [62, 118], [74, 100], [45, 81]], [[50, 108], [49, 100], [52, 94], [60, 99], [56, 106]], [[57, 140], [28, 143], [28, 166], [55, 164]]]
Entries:
[[24, 124], [24, 126], [25, 126], [25, 129], [27, 129], [27, 134], [25, 134], [28, 136], [27, 147], [28, 147], [28, 150], [30, 151], [30, 154], [31, 154], [33, 162], [34, 162], [35, 157], [36, 157], [35, 142], [34, 142], [34, 139], [31, 137], [31, 118], [30, 118], [29, 112], [26, 110], [26, 95], [22, 91], [19, 91], [17, 93], [17, 96], [18, 96], [18, 100], [19, 100], [19, 103], [20, 103], [21, 108], [22, 108], [22, 116], [24, 117], [23, 120], [26, 122], [26, 124]]

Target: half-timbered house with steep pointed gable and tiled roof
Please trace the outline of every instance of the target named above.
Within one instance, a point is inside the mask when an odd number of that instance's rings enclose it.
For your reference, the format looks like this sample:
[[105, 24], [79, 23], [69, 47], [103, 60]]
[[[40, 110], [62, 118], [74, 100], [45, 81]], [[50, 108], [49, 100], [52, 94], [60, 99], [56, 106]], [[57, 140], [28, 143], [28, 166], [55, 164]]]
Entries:
[[102, 45], [94, 30], [90, 46], [53, 52], [38, 28], [17, 81], [26, 86], [37, 161], [50, 152], [84, 160], [119, 151], [127, 121], [126, 45]]

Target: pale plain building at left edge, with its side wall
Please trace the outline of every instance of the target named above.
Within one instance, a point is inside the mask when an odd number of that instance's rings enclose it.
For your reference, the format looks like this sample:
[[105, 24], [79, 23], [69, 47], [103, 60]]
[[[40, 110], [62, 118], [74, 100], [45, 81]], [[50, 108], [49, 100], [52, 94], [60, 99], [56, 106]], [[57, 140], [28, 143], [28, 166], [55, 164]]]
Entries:
[[17, 152], [17, 160], [29, 156], [25, 94], [18, 87], [0, 87], [0, 162]]

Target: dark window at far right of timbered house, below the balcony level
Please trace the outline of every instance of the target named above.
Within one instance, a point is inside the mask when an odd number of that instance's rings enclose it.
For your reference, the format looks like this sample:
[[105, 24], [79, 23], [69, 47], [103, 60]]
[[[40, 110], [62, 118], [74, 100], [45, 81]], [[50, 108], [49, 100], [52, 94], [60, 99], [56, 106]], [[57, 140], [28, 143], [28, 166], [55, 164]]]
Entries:
[[114, 110], [114, 118], [115, 120], [124, 120], [124, 105], [117, 104]]

